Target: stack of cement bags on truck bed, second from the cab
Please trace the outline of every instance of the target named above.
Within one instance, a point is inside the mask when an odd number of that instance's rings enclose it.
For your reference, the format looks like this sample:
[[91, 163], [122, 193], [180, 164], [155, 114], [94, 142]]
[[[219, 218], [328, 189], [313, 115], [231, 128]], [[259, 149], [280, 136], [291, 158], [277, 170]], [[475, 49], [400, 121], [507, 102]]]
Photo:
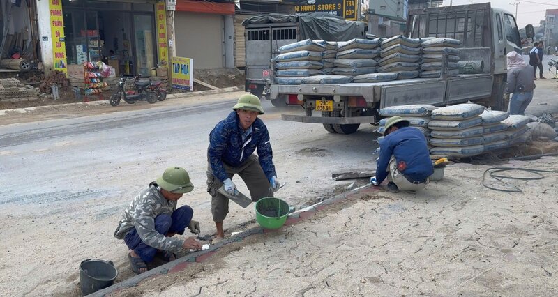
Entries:
[[418, 77], [420, 69], [421, 40], [393, 36], [382, 41], [378, 73], [396, 73], [397, 79]]

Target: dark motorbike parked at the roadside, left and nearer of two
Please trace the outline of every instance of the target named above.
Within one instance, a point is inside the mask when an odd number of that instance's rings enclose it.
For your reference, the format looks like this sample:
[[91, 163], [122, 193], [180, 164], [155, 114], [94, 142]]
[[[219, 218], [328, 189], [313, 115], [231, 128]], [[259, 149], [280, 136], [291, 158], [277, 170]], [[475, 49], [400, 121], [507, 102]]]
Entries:
[[118, 89], [110, 96], [110, 105], [117, 106], [121, 100], [128, 104], [134, 104], [137, 101], [147, 101], [151, 104], [157, 102], [158, 93], [151, 90], [151, 82], [140, 82], [139, 77], [135, 77], [133, 90], [126, 91], [126, 80], [128, 77], [121, 77], [118, 82]]

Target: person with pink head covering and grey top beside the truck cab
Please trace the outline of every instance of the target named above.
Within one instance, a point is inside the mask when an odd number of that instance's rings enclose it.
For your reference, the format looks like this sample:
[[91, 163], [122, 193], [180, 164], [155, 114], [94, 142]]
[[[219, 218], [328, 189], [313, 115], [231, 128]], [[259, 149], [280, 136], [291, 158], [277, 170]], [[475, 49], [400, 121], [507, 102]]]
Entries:
[[508, 52], [508, 82], [506, 93], [513, 93], [510, 100], [510, 114], [525, 114], [525, 109], [533, 100], [535, 82], [533, 72], [536, 66], [527, 65], [523, 56], [517, 52]]

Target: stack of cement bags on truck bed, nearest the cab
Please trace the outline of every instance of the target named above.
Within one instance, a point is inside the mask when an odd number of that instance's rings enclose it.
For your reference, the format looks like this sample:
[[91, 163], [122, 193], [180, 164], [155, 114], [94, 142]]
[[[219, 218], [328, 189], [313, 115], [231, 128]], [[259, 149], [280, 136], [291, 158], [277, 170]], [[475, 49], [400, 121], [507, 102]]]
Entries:
[[437, 78], [441, 75], [442, 57], [448, 54], [448, 77], [459, 75], [459, 45], [461, 41], [452, 38], [423, 38], [421, 47], [421, 77]]

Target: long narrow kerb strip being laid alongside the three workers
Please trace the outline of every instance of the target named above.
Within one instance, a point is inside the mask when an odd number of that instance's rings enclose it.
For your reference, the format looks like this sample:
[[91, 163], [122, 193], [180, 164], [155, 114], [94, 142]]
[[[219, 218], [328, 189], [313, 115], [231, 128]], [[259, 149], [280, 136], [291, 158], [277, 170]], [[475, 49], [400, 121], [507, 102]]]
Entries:
[[[312, 206], [302, 208], [299, 211], [294, 211], [293, 213], [289, 214], [287, 221], [285, 222], [285, 226], [298, 224], [302, 220], [312, 217], [312, 215], [314, 215], [315, 213], [319, 211], [323, 211], [324, 209], [326, 209], [328, 206], [331, 206], [332, 204], [336, 204], [341, 201], [345, 201], [347, 199], [352, 199], [366, 193], [378, 192], [379, 190], [380, 190], [379, 187], [371, 187], [370, 185], [363, 185], [359, 188], [355, 188], [348, 192], [335, 195], [329, 199], [320, 201], [317, 204], [313, 204]], [[88, 296], [103, 297], [107, 294], [112, 294], [114, 292], [120, 291], [121, 289], [125, 289], [128, 287], [135, 287], [137, 286], [137, 284], [140, 284], [140, 282], [158, 277], [160, 275], [178, 273], [186, 269], [186, 267], [188, 267], [190, 264], [196, 262], [202, 263], [203, 261], [206, 261], [207, 259], [211, 258], [213, 254], [215, 254], [215, 252], [219, 250], [221, 247], [223, 247], [224, 245], [227, 245], [229, 243], [241, 242], [243, 241], [244, 238], [251, 235], [264, 234], [264, 233], [270, 233], [276, 231], [280, 231], [280, 229], [268, 230], [268, 229], [263, 229], [262, 227], [253, 227], [252, 229], [248, 229], [239, 234], [235, 234], [234, 236], [231, 236], [226, 240], [221, 241], [220, 243], [216, 243], [215, 245], [210, 245], [209, 250], [193, 252], [191, 254], [188, 254], [187, 256], [181, 257], [167, 264], [163, 264], [161, 266], [153, 268], [150, 271], [147, 271], [145, 273], [130, 277], [128, 278], [128, 280], [123, 280], [118, 284], [113, 284], [111, 287], [107, 287], [100, 291], [96, 291], [95, 293], [90, 294]]]

